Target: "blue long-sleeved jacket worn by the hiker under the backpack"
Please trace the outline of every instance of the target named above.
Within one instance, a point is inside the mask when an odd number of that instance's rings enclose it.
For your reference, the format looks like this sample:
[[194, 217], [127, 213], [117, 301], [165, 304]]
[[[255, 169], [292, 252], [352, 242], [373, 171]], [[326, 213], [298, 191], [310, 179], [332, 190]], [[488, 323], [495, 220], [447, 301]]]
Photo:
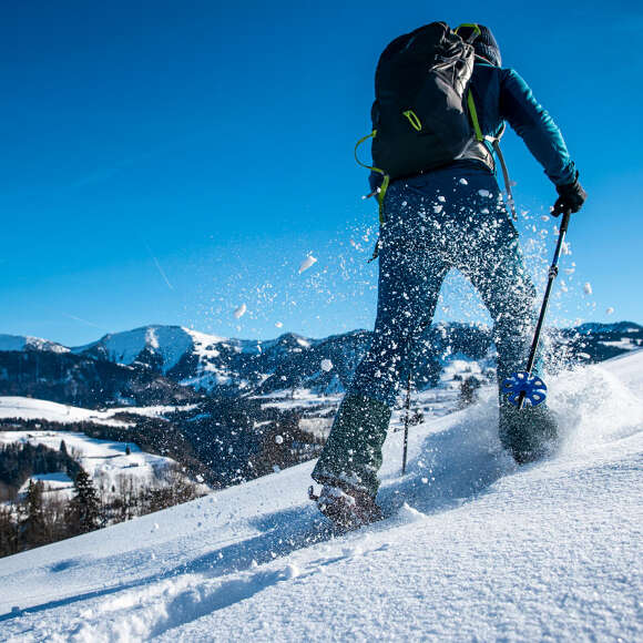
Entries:
[[[481, 62], [477, 58], [471, 93], [482, 134], [498, 136], [504, 122], [508, 122], [555, 185], [574, 182], [575, 166], [561, 131], [518, 72]], [[492, 153], [491, 145], [487, 145]], [[452, 166], [457, 169], [471, 163], [480, 164], [477, 161], [456, 161]], [[371, 188], [377, 188], [380, 183], [381, 175], [372, 172]]]

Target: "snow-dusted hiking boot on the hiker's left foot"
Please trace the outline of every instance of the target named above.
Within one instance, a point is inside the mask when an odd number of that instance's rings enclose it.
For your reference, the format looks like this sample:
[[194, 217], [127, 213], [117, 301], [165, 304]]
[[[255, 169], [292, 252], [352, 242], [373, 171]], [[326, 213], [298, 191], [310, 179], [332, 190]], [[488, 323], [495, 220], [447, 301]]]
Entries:
[[319, 496], [315, 496], [313, 487], [308, 497], [317, 503], [319, 511], [341, 531], [359, 529], [384, 518], [375, 498], [367, 491], [324, 484]]

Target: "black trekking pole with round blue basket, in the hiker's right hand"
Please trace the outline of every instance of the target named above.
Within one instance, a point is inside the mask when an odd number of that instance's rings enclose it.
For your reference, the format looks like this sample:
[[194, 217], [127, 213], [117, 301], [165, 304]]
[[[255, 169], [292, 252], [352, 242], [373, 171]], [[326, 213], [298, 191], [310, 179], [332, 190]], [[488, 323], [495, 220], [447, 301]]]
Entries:
[[567, 211], [563, 214], [563, 218], [560, 226], [560, 232], [558, 235], [558, 243], [555, 246], [555, 252], [553, 254], [553, 261], [549, 268], [549, 279], [547, 283], [547, 288], [544, 290], [544, 297], [542, 299], [542, 307], [540, 309], [540, 317], [538, 318], [538, 324], [535, 326], [535, 333], [533, 335], [533, 341], [531, 343], [531, 349], [529, 351], [529, 359], [527, 360], [527, 369], [514, 372], [508, 377], [502, 387], [504, 394], [508, 396], [509, 401], [517, 406], [518, 409], [522, 409], [524, 402], [528, 401], [530, 406], [538, 406], [543, 402], [547, 398], [547, 385], [540, 377], [533, 377], [531, 371], [535, 363], [535, 355], [538, 353], [538, 345], [540, 344], [540, 335], [544, 326], [544, 317], [547, 315], [547, 308], [549, 306], [549, 297], [553, 287], [553, 282], [558, 276], [558, 262], [562, 252], [564, 244], [565, 234], [570, 224], [571, 211]]

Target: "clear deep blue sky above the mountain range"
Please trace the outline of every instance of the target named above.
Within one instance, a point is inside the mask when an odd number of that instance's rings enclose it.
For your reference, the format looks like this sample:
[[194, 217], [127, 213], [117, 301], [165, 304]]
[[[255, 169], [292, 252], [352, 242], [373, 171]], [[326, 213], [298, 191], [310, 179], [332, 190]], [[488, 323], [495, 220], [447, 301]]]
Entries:
[[[581, 171], [575, 273], [552, 320], [643, 322], [641, 3], [443, 4], [4, 2], [0, 333], [78, 345], [152, 323], [263, 338], [370, 327], [377, 215], [353, 145], [381, 49], [432, 20], [492, 28]], [[555, 193], [513, 133], [504, 151], [541, 284]], [[441, 318], [483, 318], [458, 278], [443, 304]]]

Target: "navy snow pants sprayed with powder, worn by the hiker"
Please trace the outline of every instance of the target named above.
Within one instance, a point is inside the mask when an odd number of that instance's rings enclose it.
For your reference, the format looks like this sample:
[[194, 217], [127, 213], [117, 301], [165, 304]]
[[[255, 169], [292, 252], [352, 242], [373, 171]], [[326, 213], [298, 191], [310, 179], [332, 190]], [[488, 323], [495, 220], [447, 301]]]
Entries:
[[[460, 271], [489, 309], [499, 382], [524, 368], [535, 320], [535, 289], [498, 182], [489, 171], [458, 166], [396, 181], [386, 193], [385, 215], [372, 341], [313, 472], [320, 482], [341, 479], [370, 492], [377, 491], [376, 472], [388, 425], [382, 409], [395, 404], [447, 273]], [[365, 409], [364, 404], [375, 405], [367, 415], [382, 418], [380, 426], [354, 426], [360, 415], [365, 417], [356, 410]], [[351, 405], [356, 409], [350, 410]], [[344, 417], [348, 414], [350, 419]]]

